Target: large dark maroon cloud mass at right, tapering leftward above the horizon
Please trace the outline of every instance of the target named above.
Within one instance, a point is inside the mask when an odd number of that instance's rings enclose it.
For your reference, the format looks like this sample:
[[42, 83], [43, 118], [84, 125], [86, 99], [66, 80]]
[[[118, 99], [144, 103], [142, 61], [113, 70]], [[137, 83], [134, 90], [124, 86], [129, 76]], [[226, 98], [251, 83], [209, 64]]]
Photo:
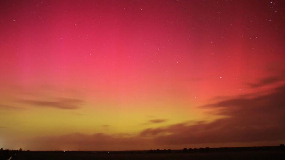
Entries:
[[[166, 128], [146, 129], [160, 145], [231, 143], [285, 140], [285, 85], [267, 95], [232, 97], [203, 107], [225, 118], [211, 123], [180, 123]], [[168, 135], [159, 135], [167, 132]]]

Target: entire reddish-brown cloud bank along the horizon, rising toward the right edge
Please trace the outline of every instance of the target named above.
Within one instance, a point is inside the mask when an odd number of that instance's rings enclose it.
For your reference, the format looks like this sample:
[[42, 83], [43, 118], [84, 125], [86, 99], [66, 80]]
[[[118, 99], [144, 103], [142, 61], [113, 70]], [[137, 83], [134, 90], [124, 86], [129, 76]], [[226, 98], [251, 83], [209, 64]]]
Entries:
[[[266, 95], [237, 96], [203, 107], [220, 118], [208, 123], [178, 123], [148, 128], [138, 135], [96, 133], [31, 139], [28, 148], [38, 150], [139, 150], [189, 144], [252, 143], [285, 140], [285, 85]], [[56, 142], [56, 143], [55, 143]], [[43, 145], [44, 144], [44, 145]]]

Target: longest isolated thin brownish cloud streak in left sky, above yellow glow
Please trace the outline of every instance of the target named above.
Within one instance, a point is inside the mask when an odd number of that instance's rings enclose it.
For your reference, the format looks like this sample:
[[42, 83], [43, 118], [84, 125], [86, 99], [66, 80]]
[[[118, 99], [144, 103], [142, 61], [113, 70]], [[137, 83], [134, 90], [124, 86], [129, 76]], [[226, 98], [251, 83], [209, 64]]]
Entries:
[[40, 107], [77, 109], [83, 101], [81, 99], [58, 98], [54, 100], [19, 100], [18, 102]]

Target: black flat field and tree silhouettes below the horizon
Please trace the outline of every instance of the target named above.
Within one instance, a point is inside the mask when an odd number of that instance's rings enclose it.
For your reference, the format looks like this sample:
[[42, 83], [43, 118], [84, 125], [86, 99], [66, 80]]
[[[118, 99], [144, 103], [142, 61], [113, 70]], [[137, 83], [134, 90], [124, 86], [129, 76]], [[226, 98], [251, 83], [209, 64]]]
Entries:
[[[12, 153], [13, 152], [13, 153]], [[204, 153], [183, 153], [174, 150], [172, 153], [149, 153], [148, 151], [122, 151], [122, 152], [83, 152], [83, 151], [10, 151], [9, 155], [1, 153], [1, 159], [23, 160], [57, 160], [57, 159], [285, 159], [284, 150], [259, 151], [214, 151]]]

